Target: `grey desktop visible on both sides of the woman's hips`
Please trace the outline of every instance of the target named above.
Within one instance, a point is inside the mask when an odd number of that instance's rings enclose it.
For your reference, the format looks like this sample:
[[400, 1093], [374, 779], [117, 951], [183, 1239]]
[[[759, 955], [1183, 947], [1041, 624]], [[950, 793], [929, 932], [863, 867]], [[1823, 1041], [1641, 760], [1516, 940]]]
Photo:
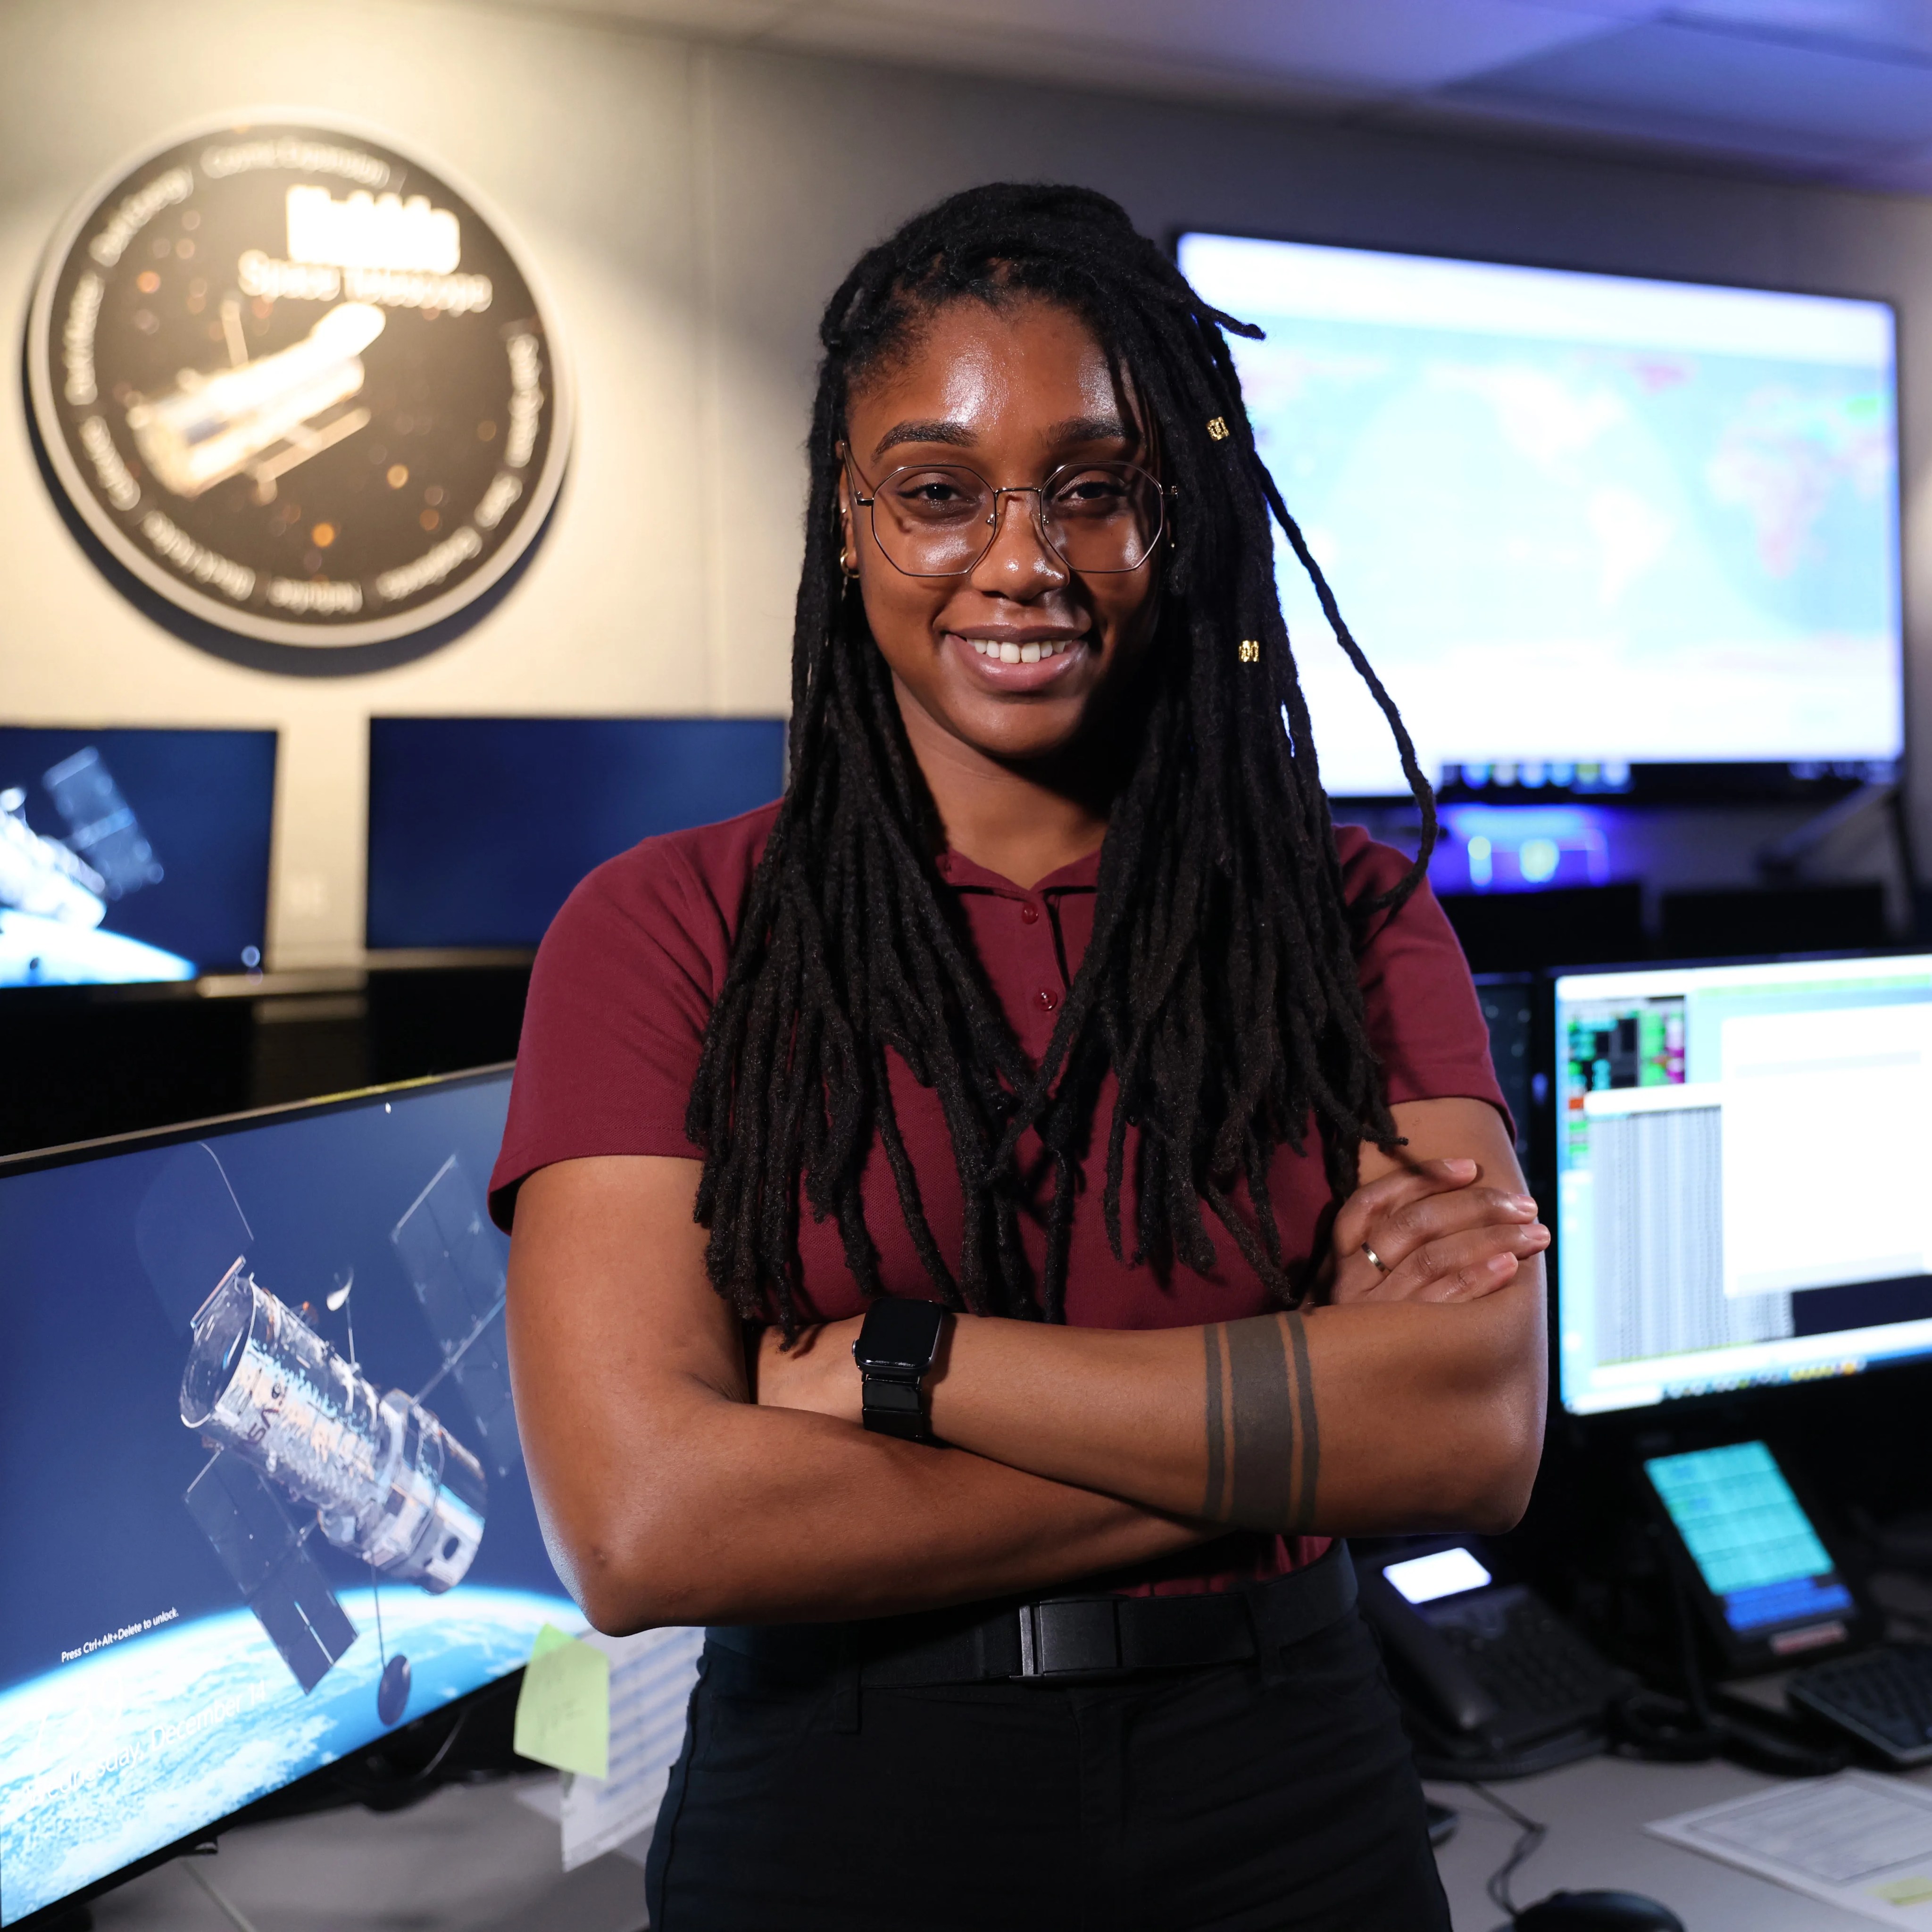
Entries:
[[[1868, 1918], [1644, 1832], [1652, 1818], [1770, 1783], [1731, 1764], [1592, 1758], [1501, 1785], [1517, 1810], [1549, 1826], [1517, 1872], [1517, 1899], [1528, 1905], [1561, 1886], [1621, 1886], [1662, 1899], [1689, 1932], [1870, 1932]], [[1463, 1818], [1437, 1855], [1455, 1932], [1493, 1932], [1501, 1913], [1484, 1886], [1517, 1828], [1463, 1785], [1432, 1785], [1430, 1795]], [[512, 1785], [439, 1791], [388, 1816], [340, 1810], [232, 1832], [203, 1868], [257, 1932], [639, 1932], [643, 1924], [643, 1872], [612, 1855], [564, 1874], [556, 1826], [520, 1804]], [[110, 1891], [95, 1905], [95, 1924], [232, 1932], [180, 1866]]]

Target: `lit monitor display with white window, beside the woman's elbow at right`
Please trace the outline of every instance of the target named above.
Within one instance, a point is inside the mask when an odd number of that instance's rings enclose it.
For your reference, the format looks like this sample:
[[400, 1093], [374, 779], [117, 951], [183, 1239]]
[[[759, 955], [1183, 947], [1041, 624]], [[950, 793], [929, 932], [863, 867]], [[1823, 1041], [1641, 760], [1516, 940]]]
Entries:
[[1577, 1416], [1932, 1358], [1932, 954], [1555, 980]]

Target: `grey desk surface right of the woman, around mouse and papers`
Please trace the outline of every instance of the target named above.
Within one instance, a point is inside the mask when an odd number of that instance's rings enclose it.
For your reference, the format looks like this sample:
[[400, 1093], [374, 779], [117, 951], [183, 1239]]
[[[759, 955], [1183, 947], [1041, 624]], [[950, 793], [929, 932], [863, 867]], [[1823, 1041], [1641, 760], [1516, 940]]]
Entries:
[[[1915, 1774], [1917, 1781], [1932, 1781]], [[1549, 1826], [1542, 1849], [1517, 1866], [1511, 1889], [1519, 1905], [1551, 1891], [1594, 1888], [1642, 1891], [1669, 1905], [1685, 1932], [1872, 1932], [1874, 1920], [1820, 1905], [1752, 1878], [1716, 1859], [1652, 1837], [1644, 1826], [1702, 1804], [1721, 1804], [1776, 1779], [1735, 1764], [1633, 1764], [1588, 1758], [1542, 1777], [1519, 1777], [1497, 1793], [1524, 1818]], [[1503, 1915], [1484, 1889], [1509, 1857], [1517, 1828], [1466, 1785], [1430, 1785], [1430, 1797], [1461, 1814], [1455, 1837], [1435, 1855], [1449, 1893], [1455, 1932], [1493, 1932]]]

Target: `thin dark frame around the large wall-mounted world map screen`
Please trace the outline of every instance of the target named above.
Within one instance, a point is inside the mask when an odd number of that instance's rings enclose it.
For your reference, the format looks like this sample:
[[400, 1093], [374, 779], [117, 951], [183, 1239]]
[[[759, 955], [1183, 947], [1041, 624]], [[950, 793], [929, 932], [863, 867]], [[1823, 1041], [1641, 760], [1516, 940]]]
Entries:
[[[1356, 255], [1410, 255], [1418, 261], [1461, 263], [1472, 269], [1548, 269], [1553, 274], [1596, 274], [1613, 282], [1663, 282], [1679, 288], [1721, 288], [1741, 296], [1816, 296], [1824, 301], [1868, 301], [1891, 317], [1891, 609], [1895, 612], [1893, 663], [1899, 686], [1899, 750], [1889, 763], [1895, 771], [1893, 782], [1903, 782], [1911, 769], [1913, 755], [1913, 665], [1907, 649], [1907, 609], [1905, 609], [1905, 410], [1907, 410], [1907, 369], [1905, 369], [1905, 305], [1895, 296], [1874, 296], [1868, 290], [1799, 286], [1793, 282], [1743, 282], [1718, 274], [1642, 274], [1629, 269], [1604, 269], [1594, 263], [1561, 255], [1492, 255], [1488, 251], [1422, 247], [1397, 242], [1350, 242], [1331, 234], [1310, 234], [1306, 230], [1235, 228], [1202, 226], [1200, 222], [1173, 222], [1167, 228], [1167, 255], [1180, 267], [1180, 243], [1188, 236], [1211, 236], [1227, 242], [1285, 242], [1294, 247], [1349, 249]], [[1318, 748], [1320, 750], [1320, 748]], [[1793, 763], [1810, 763], [1793, 761]], [[1839, 759], [1845, 765], [1868, 765], [1870, 759]], [[1791, 765], [1766, 765], [1756, 759], [1708, 759], [1700, 763], [1671, 765], [1633, 765], [1638, 771], [1654, 771], [1648, 786], [1633, 782], [1629, 792], [1559, 792], [1551, 786], [1540, 790], [1524, 788], [1520, 800], [1482, 796], [1482, 804], [1563, 804], [1575, 796], [1580, 804], [1617, 806], [1675, 806], [1675, 804], [1770, 804], [1810, 800], [1828, 806], [1847, 796], [1861, 782], [1849, 777], [1797, 779]], [[1663, 775], [1669, 777], [1663, 777]], [[1432, 788], [1441, 794], [1445, 786], [1432, 777]], [[1349, 806], [1397, 806], [1410, 802], [1408, 792], [1331, 792], [1337, 802]]]

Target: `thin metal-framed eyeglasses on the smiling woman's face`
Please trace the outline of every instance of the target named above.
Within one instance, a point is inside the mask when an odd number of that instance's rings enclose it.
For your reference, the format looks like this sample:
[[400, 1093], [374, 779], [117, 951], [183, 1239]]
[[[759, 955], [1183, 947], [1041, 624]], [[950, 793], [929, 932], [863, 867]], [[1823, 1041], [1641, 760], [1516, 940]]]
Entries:
[[908, 464], [869, 497], [852, 469], [852, 500], [871, 512], [885, 560], [908, 578], [962, 578], [993, 549], [1003, 497], [1034, 498], [1034, 527], [1068, 570], [1138, 570], [1161, 539], [1167, 498], [1136, 464], [1061, 464], [1045, 483], [995, 489], [960, 464]]

